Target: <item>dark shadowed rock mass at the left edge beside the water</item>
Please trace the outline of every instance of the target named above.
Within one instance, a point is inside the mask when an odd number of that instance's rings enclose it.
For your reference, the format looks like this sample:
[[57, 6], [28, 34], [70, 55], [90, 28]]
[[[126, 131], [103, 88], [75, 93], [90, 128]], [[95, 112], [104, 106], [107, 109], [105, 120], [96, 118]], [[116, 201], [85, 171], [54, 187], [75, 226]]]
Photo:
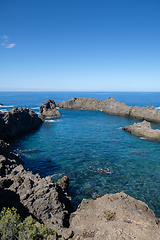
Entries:
[[9, 139], [38, 129], [42, 122], [34, 111], [25, 107], [0, 112], [0, 139]]

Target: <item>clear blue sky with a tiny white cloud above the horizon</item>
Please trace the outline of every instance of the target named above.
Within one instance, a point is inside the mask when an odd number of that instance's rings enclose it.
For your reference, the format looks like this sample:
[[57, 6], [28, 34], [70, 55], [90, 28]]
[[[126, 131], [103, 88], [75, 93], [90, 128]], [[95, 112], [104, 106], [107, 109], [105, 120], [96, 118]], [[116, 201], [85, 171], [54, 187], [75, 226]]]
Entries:
[[160, 91], [160, 0], [0, 0], [0, 91]]

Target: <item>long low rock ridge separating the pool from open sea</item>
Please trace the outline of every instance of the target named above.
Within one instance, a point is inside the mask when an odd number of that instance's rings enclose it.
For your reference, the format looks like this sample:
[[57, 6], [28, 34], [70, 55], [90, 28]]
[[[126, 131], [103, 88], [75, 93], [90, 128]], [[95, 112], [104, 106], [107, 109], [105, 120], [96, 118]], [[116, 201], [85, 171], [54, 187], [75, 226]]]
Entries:
[[59, 108], [101, 110], [103, 112], [160, 123], [160, 111], [154, 106], [132, 107], [117, 102], [114, 97], [105, 101], [91, 98], [71, 98], [56, 105]]

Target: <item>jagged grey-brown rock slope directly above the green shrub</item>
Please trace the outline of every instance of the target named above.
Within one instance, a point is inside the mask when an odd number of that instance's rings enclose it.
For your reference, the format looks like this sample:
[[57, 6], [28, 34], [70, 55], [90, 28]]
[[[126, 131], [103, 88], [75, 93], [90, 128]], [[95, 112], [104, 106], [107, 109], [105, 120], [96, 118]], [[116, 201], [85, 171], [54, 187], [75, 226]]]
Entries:
[[[41, 178], [24, 169], [19, 155], [9, 152], [1, 141], [0, 154], [0, 209], [16, 207], [22, 217], [32, 215], [47, 228], [60, 235], [70, 235], [69, 216], [73, 207], [62, 187], [51, 177]], [[8, 150], [7, 150], [8, 149]]]

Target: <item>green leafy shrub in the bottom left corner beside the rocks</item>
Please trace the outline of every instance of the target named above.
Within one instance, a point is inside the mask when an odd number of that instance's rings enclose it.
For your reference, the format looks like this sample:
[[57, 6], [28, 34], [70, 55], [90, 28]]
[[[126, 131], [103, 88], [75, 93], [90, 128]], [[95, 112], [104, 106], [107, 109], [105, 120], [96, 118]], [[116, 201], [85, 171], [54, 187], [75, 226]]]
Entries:
[[23, 222], [15, 208], [3, 208], [0, 213], [0, 238], [2, 240], [49, 240], [56, 234], [52, 229], [47, 229], [43, 224], [36, 224], [31, 217]]

